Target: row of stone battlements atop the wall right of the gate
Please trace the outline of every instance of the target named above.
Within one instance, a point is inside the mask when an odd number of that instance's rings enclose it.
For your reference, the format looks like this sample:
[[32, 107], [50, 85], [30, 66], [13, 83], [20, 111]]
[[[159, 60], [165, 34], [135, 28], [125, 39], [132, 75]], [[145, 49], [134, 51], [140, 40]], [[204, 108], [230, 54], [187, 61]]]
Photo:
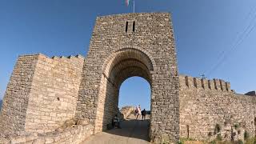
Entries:
[[219, 91], [231, 91], [230, 82], [225, 82], [222, 79], [214, 78], [213, 80], [208, 80], [207, 78], [194, 78], [187, 75], [179, 75], [180, 87], [183, 89], [195, 88], [195, 89], [205, 89], [205, 90], [219, 90]]

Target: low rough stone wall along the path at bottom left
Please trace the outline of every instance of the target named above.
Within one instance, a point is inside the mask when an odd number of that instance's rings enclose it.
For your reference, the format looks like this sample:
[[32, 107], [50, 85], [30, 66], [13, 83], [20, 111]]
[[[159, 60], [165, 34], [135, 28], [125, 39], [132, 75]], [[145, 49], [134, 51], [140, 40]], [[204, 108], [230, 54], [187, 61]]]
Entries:
[[66, 128], [63, 131], [54, 131], [45, 134], [22, 134], [21, 136], [10, 137], [10, 138], [0, 138], [0, 143], [2, 144], [14, 144], [14, 143], [81, 143], [86, 138], [93, 134], [93, 126], [87, 124], [74, 125]]

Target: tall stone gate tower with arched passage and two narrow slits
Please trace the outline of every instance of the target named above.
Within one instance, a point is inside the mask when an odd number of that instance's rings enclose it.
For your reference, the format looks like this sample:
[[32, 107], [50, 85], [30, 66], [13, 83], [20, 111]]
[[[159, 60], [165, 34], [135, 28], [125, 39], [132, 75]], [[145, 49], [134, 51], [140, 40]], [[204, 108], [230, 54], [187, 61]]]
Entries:
[[178, 68], [170, 14], [98, 17], [82, 75], [76, 116], [91, 119], [94, 132], [117, 113], [122, 82], [140, 76], [152, 90], [150, 138], [178, 140]]

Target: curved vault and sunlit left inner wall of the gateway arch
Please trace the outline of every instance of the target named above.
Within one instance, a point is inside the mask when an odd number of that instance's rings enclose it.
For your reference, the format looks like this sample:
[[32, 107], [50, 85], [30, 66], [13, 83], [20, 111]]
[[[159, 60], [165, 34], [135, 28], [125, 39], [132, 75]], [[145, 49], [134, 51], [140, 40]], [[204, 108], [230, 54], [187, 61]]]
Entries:
[[106, 59], [103, 65], [100, 91], [98, 94], [98, 110], [95, 121], [95, 131], [106, 129], [118, 113], [119, 89], [127, 78], [138, 76], [152, 83], [154, 59], [141, 50], [125, 48], [116, 51]]

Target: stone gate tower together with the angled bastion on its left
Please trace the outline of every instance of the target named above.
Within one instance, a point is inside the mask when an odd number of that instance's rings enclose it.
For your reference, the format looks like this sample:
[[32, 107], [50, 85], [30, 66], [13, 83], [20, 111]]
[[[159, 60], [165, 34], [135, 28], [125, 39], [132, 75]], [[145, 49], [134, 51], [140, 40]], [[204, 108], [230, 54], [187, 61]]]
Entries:
[[94, 133], [118, 112], [127, 78], [151, 86], [150, 138], [179, 138], [178, 69], [168, 13], [98, 17], [85, 59], [18, 58], [2, 106], [0, 130], [45, 133], [70, 118], [86, 118]]

